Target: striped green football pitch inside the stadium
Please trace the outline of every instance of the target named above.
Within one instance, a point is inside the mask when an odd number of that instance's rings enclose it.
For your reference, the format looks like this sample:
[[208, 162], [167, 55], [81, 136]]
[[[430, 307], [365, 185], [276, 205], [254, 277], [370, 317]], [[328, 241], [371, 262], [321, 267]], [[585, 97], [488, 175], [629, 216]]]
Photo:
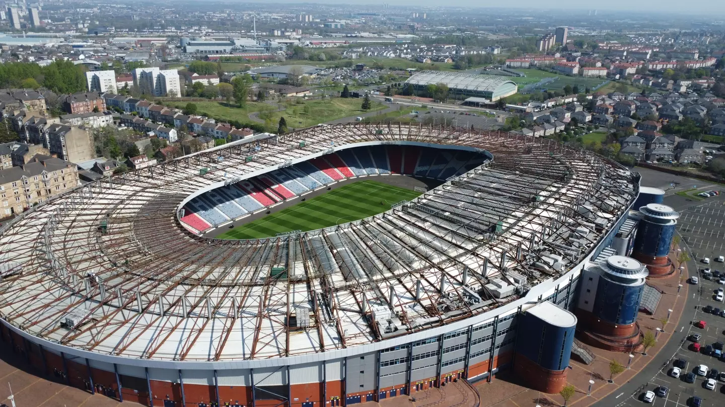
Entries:
[[[371, 217], [421, 193], [382, 182], [360, 181], [235, 227], [220, 239], [269, 238], [292, 230], [315, 230]], [[381, 202], [383, 204], [381, 204]]]

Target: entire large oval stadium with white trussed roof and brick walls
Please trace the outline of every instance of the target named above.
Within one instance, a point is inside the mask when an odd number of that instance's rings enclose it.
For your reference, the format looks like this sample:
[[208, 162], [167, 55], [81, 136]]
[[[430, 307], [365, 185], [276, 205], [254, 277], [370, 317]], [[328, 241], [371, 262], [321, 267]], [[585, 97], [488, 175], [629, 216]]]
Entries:
[[552, 390], [580, 276], [631, 252], [638, 195], [619, 164], [522, 135], [240, 140], [3, 225], [1, 337], [42, 374], [147, 406], [340, 406], [510, 368]]

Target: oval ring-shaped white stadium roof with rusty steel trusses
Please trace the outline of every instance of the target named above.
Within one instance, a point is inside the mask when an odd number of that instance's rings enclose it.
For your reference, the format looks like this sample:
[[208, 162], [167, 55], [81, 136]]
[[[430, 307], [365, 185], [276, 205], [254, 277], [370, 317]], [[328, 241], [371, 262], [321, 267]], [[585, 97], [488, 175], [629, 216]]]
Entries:
[[[221, 240], [178, 221], [204, 191], [357, 143], [495, 159], [384, 214], [323, 230]], [[463, 128], [347, 124], [240, 140], [95, 180], [7, 222], [0, 263], [14, 266], [0, 276], [0, 316], [59, 351], [139, 364], [273, 366], [375, 351], [483, 323], [554, 290], [615, 230], [637, 187], [631, 172], [589, 151]], [[302, 325], [291, 327], [293, 317]]]

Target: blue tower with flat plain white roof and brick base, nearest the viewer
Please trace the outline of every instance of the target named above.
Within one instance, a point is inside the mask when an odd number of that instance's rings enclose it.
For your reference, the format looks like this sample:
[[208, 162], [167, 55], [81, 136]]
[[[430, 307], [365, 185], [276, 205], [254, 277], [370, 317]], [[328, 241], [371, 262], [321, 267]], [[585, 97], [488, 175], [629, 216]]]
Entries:
[[576, 316], [545, 301], [519, 318], [515, 372], [535, 390], [559, 393], [566, 385]]

